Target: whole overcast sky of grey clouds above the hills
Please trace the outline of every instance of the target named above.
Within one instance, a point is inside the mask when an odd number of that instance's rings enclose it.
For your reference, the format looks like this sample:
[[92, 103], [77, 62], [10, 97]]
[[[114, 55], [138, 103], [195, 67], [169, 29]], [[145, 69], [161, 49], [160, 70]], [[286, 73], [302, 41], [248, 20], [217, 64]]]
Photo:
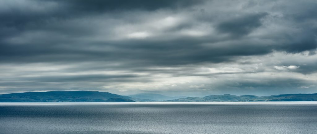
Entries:
[[0, 94], [317, 93], [316, 0], [1, 0]]

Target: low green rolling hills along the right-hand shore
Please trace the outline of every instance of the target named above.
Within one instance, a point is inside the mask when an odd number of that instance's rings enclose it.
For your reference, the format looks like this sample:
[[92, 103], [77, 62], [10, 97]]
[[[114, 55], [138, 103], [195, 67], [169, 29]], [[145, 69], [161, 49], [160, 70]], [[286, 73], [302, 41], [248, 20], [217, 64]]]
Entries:
[[271, 96], [256, 95], [209, 95], [203, 98], [187, 97], [174, 100], [166, 100], [168, 102], [193, 102], [193, 101], [317, 101], [317, 94], [280, 94]]

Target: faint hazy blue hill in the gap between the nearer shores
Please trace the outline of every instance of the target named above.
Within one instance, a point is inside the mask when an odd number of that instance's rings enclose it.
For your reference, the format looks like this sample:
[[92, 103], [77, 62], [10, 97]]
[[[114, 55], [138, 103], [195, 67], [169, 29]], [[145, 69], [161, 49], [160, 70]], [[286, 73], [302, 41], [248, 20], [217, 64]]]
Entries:
[[150, 94], [150, 93], [142, 93], [142, 94], [133, 94], [133, 95], [129, 95], [130, 97], [133, 98], [139, 98], [142, 100], [172, 100], [172, 99], [178, 99], [178, 98], [182, 98], [184, 96], [179, 96], [179, 97], [171, 97], [171, 96], [165, 96], [162, 94]]

